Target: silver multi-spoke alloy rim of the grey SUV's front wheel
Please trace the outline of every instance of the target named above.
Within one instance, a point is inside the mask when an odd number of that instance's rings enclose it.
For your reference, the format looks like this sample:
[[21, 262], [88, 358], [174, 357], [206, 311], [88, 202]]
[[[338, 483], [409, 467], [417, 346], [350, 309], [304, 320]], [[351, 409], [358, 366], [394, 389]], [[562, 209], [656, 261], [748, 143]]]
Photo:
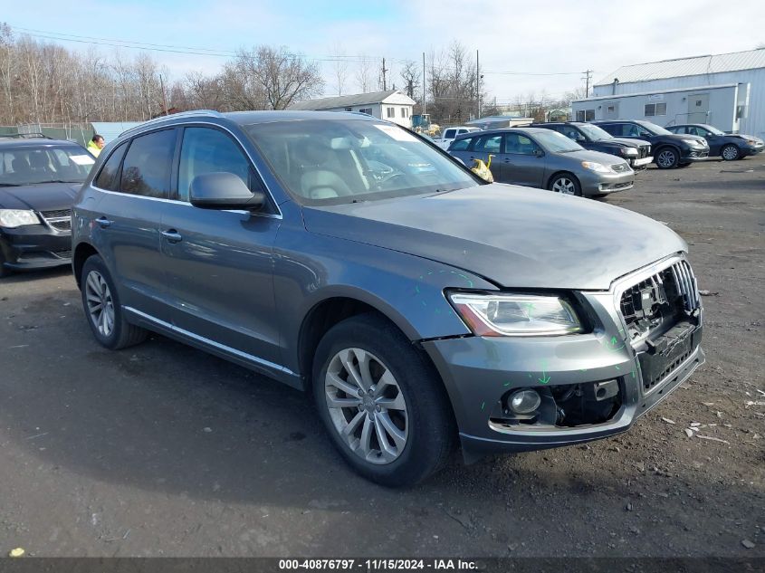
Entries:
[[386, 464], [404, 452], [409, 424], [406, 399], [382, 360], [363, 349], [340, 350], [324, 378], [330, 419], [350, 450]]

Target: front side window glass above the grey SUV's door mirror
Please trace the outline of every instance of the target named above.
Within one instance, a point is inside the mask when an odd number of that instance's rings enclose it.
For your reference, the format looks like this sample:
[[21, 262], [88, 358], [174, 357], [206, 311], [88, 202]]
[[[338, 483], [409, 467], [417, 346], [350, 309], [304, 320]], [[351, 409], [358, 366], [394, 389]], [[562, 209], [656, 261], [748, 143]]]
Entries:
[[223, 131], [186, 128], [178, 166], [178, 199], [188, 201], [194, 177], [205, 173], [233, 173], [249, 186], [250, 162], [242, 149]]

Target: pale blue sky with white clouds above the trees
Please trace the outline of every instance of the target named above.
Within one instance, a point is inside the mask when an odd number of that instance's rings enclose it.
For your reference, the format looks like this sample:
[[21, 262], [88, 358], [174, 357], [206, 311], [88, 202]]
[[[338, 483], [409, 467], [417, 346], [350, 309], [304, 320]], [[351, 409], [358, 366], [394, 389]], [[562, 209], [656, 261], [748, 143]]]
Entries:
[[[0, 21], [15, 33], [24, 28], [42, 41], [76, 50], [90, 48], [93, 44], [85, 43], [90, 38], [104, 55], [113, 53], [116, 48], [108, 44], [115, 41], [215, 52], [150, 52], [173, 78], [216, 72], [226, 54], [240, 46], [285, 45], [320, 62], [325, 95], [337, 93], [334, 64], [324, 61], [336, 53], [366, 55], [376, 64], [386, 57], [390, 81], [401, 87], [402, 62], [421, 63], [423, 52], [446, 49], [457, 40], [472, 58], [479, 52], [485, 91], [506, 103], [519, 94], [544, 90], [557, 97], [579, 88], [587, 69], [598, 81], [626, 64], [739, 52], [765, 43], [762, 0], [2, 0], [0, 6]], [[64, 41], [62, 34], [80, 42]], [[344, 92], [359, 91], [356, 66], [349, 63]]]

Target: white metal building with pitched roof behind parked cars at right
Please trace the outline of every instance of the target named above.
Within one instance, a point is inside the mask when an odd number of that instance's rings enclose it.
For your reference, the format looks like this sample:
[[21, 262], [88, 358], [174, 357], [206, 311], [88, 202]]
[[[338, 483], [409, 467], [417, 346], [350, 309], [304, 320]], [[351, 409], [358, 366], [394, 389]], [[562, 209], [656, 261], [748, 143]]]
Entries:
[[574, 119], [709, 123], [765, 136], [765, 49], [623, 66], [572, 103]]

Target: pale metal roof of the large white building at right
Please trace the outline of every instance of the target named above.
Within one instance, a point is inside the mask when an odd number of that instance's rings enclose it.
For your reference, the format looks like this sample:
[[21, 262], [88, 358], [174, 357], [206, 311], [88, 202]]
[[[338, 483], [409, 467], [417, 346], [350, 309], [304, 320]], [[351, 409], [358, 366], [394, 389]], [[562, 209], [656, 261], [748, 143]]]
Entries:
[[609, 73], [595, 85], [610, 85], [615, 79], [618, 79], [619, 83], [632, 83], [710, 73], [739, 72], [758, 68], [765, 68], [765, 49], [694, 56], [676, 60], [662, 60], [661, 62], [636, 63], [622, 66], [616, 72]]

